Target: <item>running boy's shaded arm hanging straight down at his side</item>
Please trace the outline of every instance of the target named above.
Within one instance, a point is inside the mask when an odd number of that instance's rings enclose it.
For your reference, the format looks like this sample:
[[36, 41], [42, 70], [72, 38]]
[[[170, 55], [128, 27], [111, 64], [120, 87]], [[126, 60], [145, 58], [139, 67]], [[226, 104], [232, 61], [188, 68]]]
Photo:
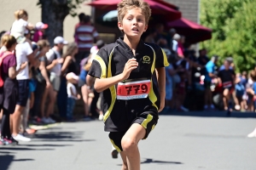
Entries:
[[156, 68], [156, 77], [160, 90], [160, 108], [158, 112], [162, 111], [165, 107], [166, 99], [166, 70], [165, 67]]

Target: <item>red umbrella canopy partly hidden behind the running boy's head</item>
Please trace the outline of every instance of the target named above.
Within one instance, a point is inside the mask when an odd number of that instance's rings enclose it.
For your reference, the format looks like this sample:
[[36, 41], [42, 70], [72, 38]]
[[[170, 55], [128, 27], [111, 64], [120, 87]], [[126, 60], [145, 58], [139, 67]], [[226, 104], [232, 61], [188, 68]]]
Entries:
[[[99, 8], [101, 10], [113, 10], [117, 8], [117, 4], [120, 1], [121, 0], [96, 0], [92, 3], [87, 3], [87, 5]], [[169, 21], [181, 18], [181, 12], [175, 10], [174, 8], [171, 8], [171, 3], [170, 6], [166, 6], [165, 4], [161, 4], [160, 0], [145, 0], [145, 2], [147, 2], [150, 5], [150, 8], [152, 9], [152, 14], [161, 14], [168, 16], [165, 19]]]

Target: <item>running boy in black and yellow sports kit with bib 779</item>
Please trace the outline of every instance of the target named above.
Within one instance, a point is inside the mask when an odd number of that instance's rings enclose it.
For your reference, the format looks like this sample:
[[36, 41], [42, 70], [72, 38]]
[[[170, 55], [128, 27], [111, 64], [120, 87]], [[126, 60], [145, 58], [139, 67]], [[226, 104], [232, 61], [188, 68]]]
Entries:
[[[165, 52], [141, 36], [151, 9], [141, 0], [118, 4], [118, 26], [124, 37], [100, 49], [90, 67], [95, 89], [103, 93], [105, 131], [123, 160], [122, 170], [139, 170], [141, 139], [158, 121], [166, 93]], [[156, 80], [154, 77], [156, 76]]]

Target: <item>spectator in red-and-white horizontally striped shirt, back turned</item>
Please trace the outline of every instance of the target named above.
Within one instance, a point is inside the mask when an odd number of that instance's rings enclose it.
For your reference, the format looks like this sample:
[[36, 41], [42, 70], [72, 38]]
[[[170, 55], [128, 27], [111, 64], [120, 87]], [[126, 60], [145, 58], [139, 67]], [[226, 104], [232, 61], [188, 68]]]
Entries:
[[79, 24], [75, 27], [74, 38], [79, 46], [79, 53], [76, 55], [77, 64], [90, 54], [90, 48], [93, 42], [98, 40], [98, 32], [94, 26], [91, 26], [90, 16], [79, 14]]

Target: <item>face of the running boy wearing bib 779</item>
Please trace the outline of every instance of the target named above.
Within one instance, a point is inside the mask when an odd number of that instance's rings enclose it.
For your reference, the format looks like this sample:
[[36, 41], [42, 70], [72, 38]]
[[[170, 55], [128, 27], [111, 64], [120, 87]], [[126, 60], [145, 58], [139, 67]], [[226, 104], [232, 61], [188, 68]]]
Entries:
[[132, 8], [128, 10], [122, 20], [118, 23], [119, 30], [125, 32], [127, 37], [140, 38], [144, 31], [147, 31], [145, 16], [141, 8]]

